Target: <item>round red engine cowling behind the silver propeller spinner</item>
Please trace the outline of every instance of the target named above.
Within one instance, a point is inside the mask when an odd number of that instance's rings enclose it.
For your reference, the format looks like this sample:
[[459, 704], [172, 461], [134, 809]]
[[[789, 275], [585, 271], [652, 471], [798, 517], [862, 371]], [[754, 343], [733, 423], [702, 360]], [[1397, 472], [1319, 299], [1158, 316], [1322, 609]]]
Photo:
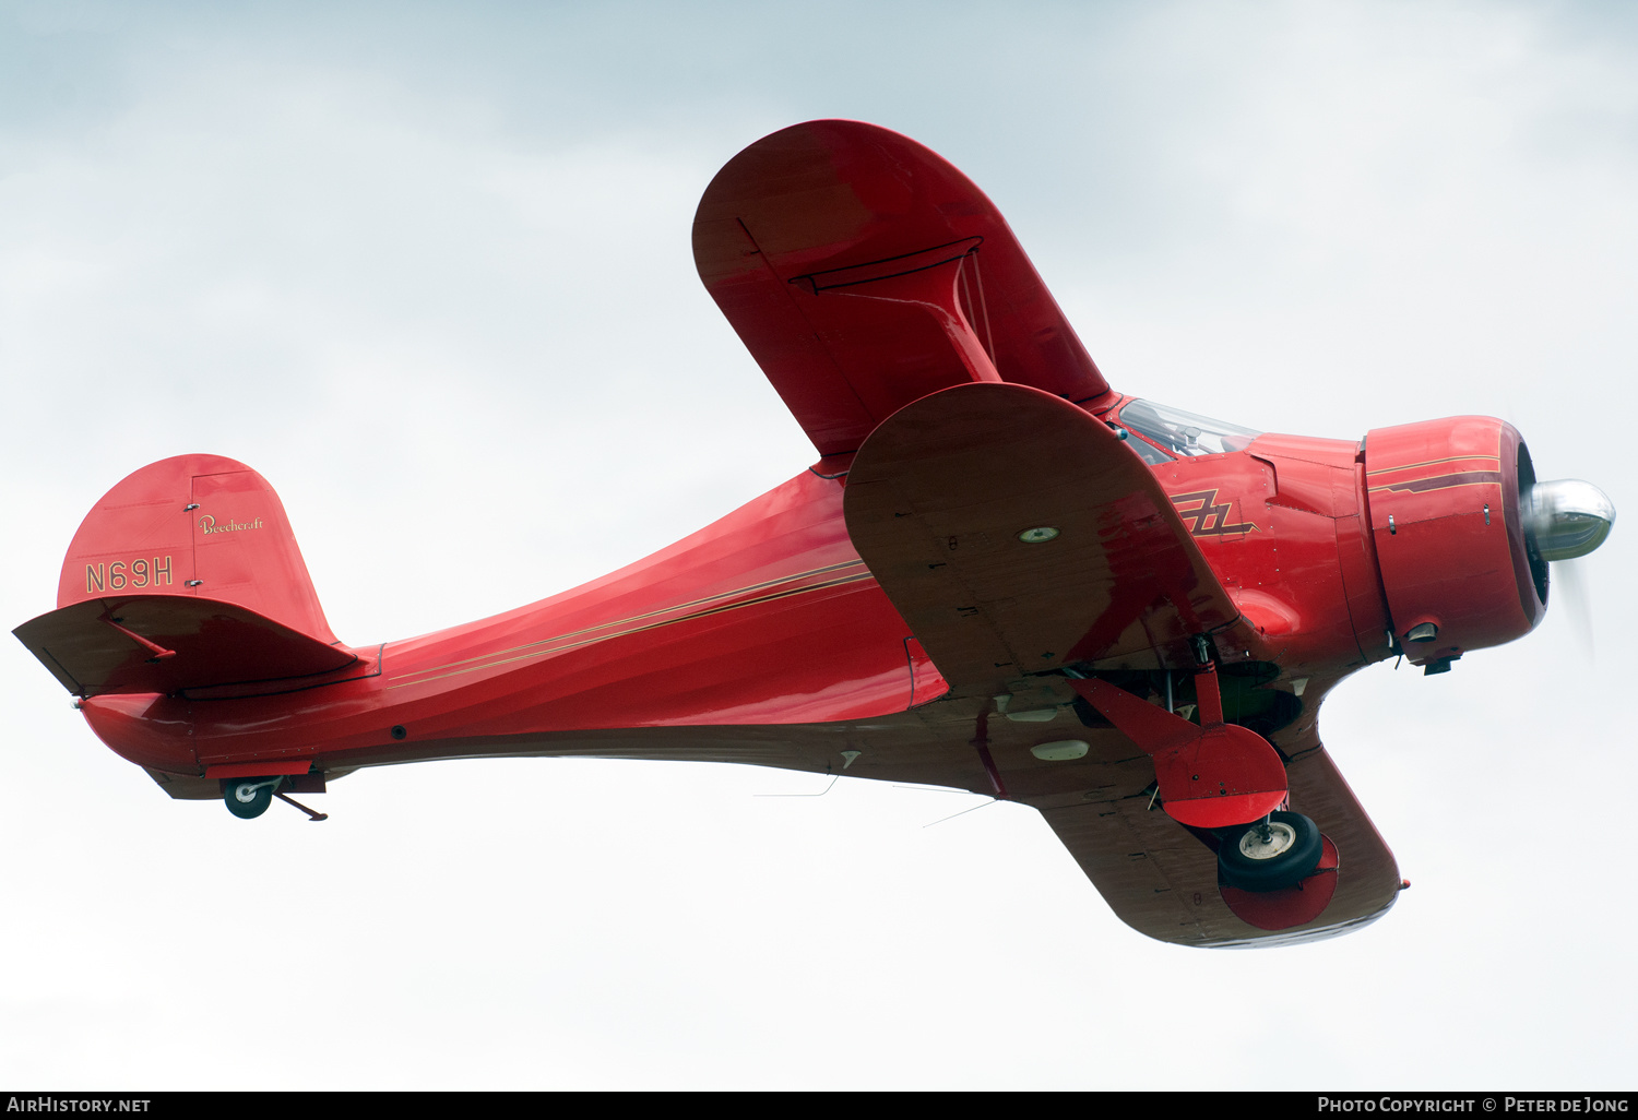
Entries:
[[1441, 671], [1541, 621], [1535, 468], [1512, 424], [1456, 416], [1378, 427], [1364, 440], [1364, 490], [1394, 637], [1414, 665]]

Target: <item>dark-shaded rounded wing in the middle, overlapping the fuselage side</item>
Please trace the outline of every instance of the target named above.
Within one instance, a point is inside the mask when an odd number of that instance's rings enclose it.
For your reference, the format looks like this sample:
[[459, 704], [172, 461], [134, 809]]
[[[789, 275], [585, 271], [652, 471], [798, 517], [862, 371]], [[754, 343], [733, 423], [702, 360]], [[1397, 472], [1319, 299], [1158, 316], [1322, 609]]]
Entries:
[[853, 547], [957, 693], [1078, 662], [1192, 665], [1189, 635], [1238, 617], [1143, 460], [1040, 390], [962, 385], [899, 409], [844, 501]]

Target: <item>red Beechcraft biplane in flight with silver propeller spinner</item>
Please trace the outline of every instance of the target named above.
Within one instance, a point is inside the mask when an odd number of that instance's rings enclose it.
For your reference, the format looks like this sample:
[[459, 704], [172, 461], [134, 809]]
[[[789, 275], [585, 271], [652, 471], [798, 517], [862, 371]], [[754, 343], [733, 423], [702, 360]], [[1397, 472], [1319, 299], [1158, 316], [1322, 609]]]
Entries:
[[1481, 416], [1355, 444], [1119, 393], [989, 200], [870, 124], [752, 144], [693, 237], [819, 452], [783, 486], [573, 591], [354, 647], [262, 476], [182, 455], [97, 503], [16, 635], [118, 755], [239, 817], [414, 760], [755, 763], [1034, 806], [1166, 942], [1392, 905], [1320, 702], [1527, 634], [1548, 562], [1613, 522], [1597, 488], [1536, 481]]

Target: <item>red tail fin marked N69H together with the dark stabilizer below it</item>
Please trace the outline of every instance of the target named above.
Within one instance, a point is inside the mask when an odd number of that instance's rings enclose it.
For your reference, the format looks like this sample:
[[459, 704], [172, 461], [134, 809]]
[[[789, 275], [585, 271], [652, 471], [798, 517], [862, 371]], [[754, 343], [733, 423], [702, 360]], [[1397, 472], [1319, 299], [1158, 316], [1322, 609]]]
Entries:
[[16, 635], [80, 696], [355, 660], [324, 619], [278, 495], [218, 455], [152, 463], [103, 495], [69, 545], [57, 609]]

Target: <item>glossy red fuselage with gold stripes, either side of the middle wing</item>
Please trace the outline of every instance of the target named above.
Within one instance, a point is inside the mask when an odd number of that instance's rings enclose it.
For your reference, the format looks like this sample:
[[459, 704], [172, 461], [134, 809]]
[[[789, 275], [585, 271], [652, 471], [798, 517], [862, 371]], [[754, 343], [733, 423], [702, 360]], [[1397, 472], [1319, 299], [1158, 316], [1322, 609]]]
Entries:
[[[1312, 681], [1312, 706], [1391, 655], [1356, 444], [1261, 436], [1153, 470], [1245, 616], [1232, 632], [1240, 657]], [[106, 694], [84, 711], [118, 753], [179, 776], [600, 753], [575, 732], [608, 729], [839, 725], [868, 740], [860, 720], [919, 709], [947, 686], [852, 547], [844, 485], [803, 472], [613, 575], [354, 648], [360, 665], [296, 689]]]

